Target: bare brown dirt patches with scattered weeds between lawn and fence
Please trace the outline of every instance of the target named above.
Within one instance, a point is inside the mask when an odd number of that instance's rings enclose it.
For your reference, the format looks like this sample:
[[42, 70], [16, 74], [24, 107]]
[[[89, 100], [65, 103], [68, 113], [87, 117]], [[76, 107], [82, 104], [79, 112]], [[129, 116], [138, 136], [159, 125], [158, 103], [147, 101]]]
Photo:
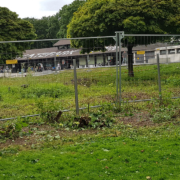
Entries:
[[[116, 116], [117, 124], [132, 125], [133, 127], [155, 127], [160, 124], [154, 123], [151, 120], [150, 114], [147, 111], [136, 113], [127, 116]], [[57, 138], [73, 138], [81, 135], [93, 135], [98, 134], [101, 130], [65, 130], [56, 129], [50, 125], [30, 125], [30, 127], [23, 128], [23, 132], [28, 133], [31, 131], [32, 134], [19, 137], [15, 140], [9, 139], [6, 142], [0, 144], [0, 149], [9, 146], [24, 146], [26, 148], [31, 148], [34, 144], [42, 144], [46, 140], [53, 140]]]

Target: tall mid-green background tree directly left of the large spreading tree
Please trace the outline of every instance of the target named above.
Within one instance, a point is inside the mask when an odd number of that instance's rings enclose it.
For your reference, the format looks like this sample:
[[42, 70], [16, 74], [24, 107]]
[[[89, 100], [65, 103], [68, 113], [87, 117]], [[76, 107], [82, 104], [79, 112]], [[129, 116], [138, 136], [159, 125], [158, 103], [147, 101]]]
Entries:
[[59, 32], [57, 33], [57, 37], [66, 38], [67, 37], [67, 25], [70, 23], [73, 13], [78, 10], [80, 6], [82, 6], [85, 1], [75, 0], [69, 5], [65, 5], [59, 11]]

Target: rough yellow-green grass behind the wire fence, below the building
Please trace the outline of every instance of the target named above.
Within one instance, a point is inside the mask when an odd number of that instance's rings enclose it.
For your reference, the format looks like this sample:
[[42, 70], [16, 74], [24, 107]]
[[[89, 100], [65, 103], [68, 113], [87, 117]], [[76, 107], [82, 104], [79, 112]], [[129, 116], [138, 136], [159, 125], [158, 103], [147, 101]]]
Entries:
[[[135, 66], [134, 78], [127, 76], [122, 67], [122, 99], [138, 100], [158, 98], [157, 67], [155, 65]], [[79, 106], [87, 107], [115, 101], [116, 69], [79, 69]], [[161, 65], [163, 96], [179, 96], [179, 63]], [[37, 114], [37, 101], [53, 100], [61, 109], [74, 110], [73, 71], [63, 71], [57, 75], [25, 78], [0, 79], [0, 118]], [[28, 85], [23, 88], [23, 85]]]

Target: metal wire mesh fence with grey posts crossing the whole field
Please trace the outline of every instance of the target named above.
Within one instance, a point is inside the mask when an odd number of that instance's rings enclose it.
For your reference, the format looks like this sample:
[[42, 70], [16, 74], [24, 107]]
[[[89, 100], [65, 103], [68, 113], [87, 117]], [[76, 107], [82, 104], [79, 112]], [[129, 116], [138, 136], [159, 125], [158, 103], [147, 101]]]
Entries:
[[[108, 37], [0, 42], [6, 47], [1, 57], [9, 59], [0, 64], [0, 120], [37, 116], [40, 103], [41, 109], [79, 114], [106, 104], [178, 98], [179, 36], [119, 32]], [[81, 48], [71, 48], [70, 40]], [[15, 54], [12, 44], [26, 44], [27, 50]]]

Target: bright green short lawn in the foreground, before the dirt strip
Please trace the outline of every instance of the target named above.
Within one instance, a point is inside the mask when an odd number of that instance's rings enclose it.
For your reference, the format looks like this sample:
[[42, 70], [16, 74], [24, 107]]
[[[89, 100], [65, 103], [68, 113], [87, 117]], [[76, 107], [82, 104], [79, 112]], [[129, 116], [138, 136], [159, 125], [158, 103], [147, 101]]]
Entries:
[[84, 134], [65, 145], [57, 141], [40, 150], [11, 150], [0, 157], [0, 179], [180, 178], [179, 128], [125, 128], [134, 131], [134, 137], [123, 135], [123, 127], [118, 127], [119, 137]]

